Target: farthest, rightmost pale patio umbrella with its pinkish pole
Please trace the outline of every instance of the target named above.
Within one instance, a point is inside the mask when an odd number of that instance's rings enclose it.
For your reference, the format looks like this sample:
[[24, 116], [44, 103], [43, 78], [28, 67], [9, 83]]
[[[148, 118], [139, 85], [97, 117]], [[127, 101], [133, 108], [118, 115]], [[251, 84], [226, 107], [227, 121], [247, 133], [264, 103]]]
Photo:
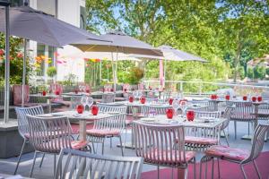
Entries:
[[[161, 50], [163, 56], [155, 56], [155, 55], [129, 55], [131, 57], [136, 57], [136, 58], [144, 58], [144, 59], [159, 59], [160, 60], [160, 81], [164, 85], [165, 81], [165, 74], [166, 74], [166, 61], [198, 61], [202, 63], [206, 63], [207, 61], [204, 60], [203, 58], [189, 54], [187, 52], [178, 50], [173, 47], [169, 46], [160, 46], [157, 47], [158, 49]], [[164, 68], [162, 68], [162, 60], [164, 60]], [[164, 69], [164, 70], [163, 70]]]

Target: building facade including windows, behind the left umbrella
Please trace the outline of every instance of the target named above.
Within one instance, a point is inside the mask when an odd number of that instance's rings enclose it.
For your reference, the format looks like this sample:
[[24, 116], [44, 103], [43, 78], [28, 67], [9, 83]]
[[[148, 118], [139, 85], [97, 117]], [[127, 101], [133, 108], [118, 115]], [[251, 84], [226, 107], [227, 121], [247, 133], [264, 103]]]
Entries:
[[[12, 0], [13, 6], [20, 6], [25, 0]], [[51, 14], [61, 21], [70, 23], [78, 28], [85, 28], [85, 0], [28, 0], [29, 6], [33, 9]], [[65, 48], [65, 47], [63, 47]], [[68, 47], [68, 50], [72, 51]], [[56, 66], [56, 81], [65, 81], [68, 76], [75, 76], [76, 81], [84, 81], [84, 62], [83, 59], [69, 59], [62, 56], [62, 48], [49, 47], [38, 42], [28, 43], [30, 62], [35, 64], [36, 58], [45, 56], [45, 59], [39, 64], [39, 70], [31, 82], [42, 84], [52, 80], [48, 77], [47, 70], [49, 66]], [[77, 51], [77, 49], [74, 49]]]

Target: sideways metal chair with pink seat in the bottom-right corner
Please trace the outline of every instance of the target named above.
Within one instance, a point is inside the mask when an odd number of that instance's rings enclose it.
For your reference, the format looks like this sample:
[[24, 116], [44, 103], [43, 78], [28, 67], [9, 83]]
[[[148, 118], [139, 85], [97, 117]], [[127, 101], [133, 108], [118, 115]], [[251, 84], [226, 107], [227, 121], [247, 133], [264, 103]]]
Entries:
[[[201, 159], [200, 178], [202, 174], [203, 163], [210, 160], [214, 162], [214, 158], [217, 158], [219, 178], [221, 177], [219, 159], [227, 160], [227, 161], [239, 164], [245, 179], [247, 179], [247, 175], [244, 171], [244, 166], [250, 162], [253, 162], [258, 178], [262, 178], [256, 166], [255, 160], [256, 158], [259, 157], [260, 152], [262, 151], [264, 147], [265, 133], [268, 132], [268, 130], [269, 130], [269, 124], [257, 125], [256, 130], [254, 132], [254, 137], [251, 141], [252, 147], [250, 151], [247, 149], [234, 149], [234, 148], [230, 148], [226, 146], [212, 146], [210, 149], [207, 149], [204, 152], [205, 156]], [[207, 167], [207, 165], [205, 167]], [[207, 171], [207, 168], [205, 168], [205, 175], [206, 175], [206, 171]], [[213, 177], [213, 169], [212, 169], [212, 177]]]

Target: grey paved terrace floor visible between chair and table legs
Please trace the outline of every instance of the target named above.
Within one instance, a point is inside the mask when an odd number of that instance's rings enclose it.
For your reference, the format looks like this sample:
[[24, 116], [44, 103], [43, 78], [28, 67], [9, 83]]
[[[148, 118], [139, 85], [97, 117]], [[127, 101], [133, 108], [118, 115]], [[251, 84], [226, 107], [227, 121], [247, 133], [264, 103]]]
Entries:
[[[250, 149], [251, 142], [241, 140], [240, 137], [244, 134], [247, 134], [247, 123], [238, 123], [238, 139], [234, 139], [234, 127], [233, 122], [230, 122], [230, 146], [233, 148], [242, 148], [242, 149]], [[127, 134], [127, 141], [130, 141], [130, 131]], [[124, 139], [124, 136], [123, 136]], [[109, 147], [109, 140], [106, 141], [105, 144], [105, 154], [106, 155], [115, 155], [120, 156], [121, 152], [120, 149], [116, 147], [118, 143], [117, 138], [113, 139], [113, 147], [110, 149]], [[221, 138], [221, 143], [226, 144], [225, 140]], [[269, 141], [265, 142], [264, 151], [269, 151]], [[101, 153], [101, 145], [98, 147], [98, 153]], [[134, 149], [125, 149], [125, 155], [126, 156], [135, 156]], [[203, 156], [203, 153], [198, 153], [196, 158], [197, 161], [200, 160], [200, 158]], [[22, 176], [29, 176], [30, 174], [30, 166], [32, 164], [32, 158], [33, 153], [24, 154], [22, 156], [22, 163], [19, 166], [18, 173]], [[39, 162], [41, 160], [41, 155], [39, 155], [39, 158], [36, 162], [36, 167], [33, 172], [34, 178], [40, 178], [40, 179], [48, 179], [52, 178], [53, 176], [53, 156], [52, 155], [46, 155], [46, 158], [44, 159], [43, 166], [39, 167]], [[7, 159], [0, 159], [0, 173], [3, 174], [13, 174], [15, 166], [16, 166], [17, 158], [7, 158]], [[269, 166], [269, 161], [268, 161]], [[268, 167], [269, 168], [269, 167]], [[156, 166], [150, 166], [150, 165], [143, 165], [143, 172], [145, 171], [151, 171], [156, 170]], [[157, 176], [156, 176], [157, 177]]]

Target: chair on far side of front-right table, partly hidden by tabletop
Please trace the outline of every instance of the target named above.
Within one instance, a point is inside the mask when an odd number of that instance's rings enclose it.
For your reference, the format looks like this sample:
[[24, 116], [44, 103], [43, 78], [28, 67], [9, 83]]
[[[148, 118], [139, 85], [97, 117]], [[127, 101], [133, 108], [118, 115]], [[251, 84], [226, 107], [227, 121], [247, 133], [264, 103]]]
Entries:
[[[204, 119], [206, 119], [206, 117], [220, 118], [221, 111], [195, 111], [195, 117], [204, 117]], [[215, 127], [186, 127], [185, 134], [185, 144], [187, 149], [204, 151], [204, 149], [219, 144], [221, 124]]]

